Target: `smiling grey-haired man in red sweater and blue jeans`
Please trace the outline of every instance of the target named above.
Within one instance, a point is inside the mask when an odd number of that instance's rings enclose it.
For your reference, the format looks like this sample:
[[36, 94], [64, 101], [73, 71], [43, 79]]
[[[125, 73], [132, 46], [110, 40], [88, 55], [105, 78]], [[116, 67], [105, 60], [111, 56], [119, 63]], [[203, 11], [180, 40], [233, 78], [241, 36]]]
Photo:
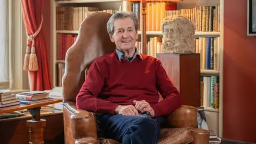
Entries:
[[[140, 54], [138, 18], [131, 12], [111, 16], [107, 31], [116, 51], [94, 60], [77, 95], [77, 108], [101, 114], [106, 137], [122, 143], [157, 143], [163, 116], [181, 106], [178, 90], [161, 62]], [[164, 98], [158, 101], [159, 93]]]

